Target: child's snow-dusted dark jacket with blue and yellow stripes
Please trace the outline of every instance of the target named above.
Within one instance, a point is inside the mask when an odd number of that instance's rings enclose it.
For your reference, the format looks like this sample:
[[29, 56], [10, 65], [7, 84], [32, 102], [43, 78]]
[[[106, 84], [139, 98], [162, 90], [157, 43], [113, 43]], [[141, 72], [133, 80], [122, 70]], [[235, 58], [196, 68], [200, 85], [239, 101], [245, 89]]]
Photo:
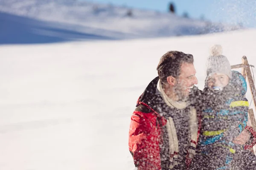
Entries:
[[246, 92], [247, 83], [238, 71], [232, 71], [232, 79], [223, 91], [214, 93], [204, 88], [200, 146], [221, 146], [235, 153], [232, 140], [244, 130], [248, 119]]

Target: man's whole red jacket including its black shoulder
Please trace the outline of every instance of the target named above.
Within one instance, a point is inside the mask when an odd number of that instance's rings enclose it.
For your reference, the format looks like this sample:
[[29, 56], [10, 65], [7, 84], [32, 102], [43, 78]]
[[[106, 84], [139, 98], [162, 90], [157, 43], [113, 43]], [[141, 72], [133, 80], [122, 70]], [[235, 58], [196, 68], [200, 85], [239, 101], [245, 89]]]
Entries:
[[[160, 149], [160, 145], [163, 144], [162, 128], [167, 122], [164, 116], [160, 116], [160, 113], [166, 107], [163, 107], [162, 97], [157, 94], [158, 79], [158, 77], [155, 78], [145, 89], [131, 116], [129, 150], [138, 170], [165, 170], [163, 167], [166, 167], [161, 162]], [[195, 141], [193, 143], [196, 144]], [[190, 162], [191, 159], [187, 156], [186, 164], [189, 166]]]

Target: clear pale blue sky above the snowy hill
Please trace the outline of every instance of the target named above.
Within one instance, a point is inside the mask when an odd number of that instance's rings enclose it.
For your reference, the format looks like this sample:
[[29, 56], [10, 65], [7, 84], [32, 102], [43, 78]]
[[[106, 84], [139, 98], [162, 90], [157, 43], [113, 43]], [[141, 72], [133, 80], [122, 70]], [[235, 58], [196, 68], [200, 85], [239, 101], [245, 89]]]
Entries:
[[[82, 0], [80, 0], [82, 1]], [[96, 3], [112, 3], [131, 8], [151, 9], [166, 12], [173, 2], [178, 15], [185, 11], [189, 17], [222, 23], [242, 23], [256, 27], [256, 0], [90, 0]]]

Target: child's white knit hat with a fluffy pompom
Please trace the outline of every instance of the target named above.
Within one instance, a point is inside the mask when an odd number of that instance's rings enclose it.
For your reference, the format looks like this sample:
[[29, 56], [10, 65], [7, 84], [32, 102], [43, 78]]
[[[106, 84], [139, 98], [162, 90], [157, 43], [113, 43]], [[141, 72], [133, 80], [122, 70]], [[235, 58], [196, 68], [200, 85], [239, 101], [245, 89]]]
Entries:
[[215, 73], [226, 74], [230, 79], [232, 79], [231, 66], [227, 57], [222, 54], [221, 45], [213, 45], [210, 47], [210, 56], [206, 63], [206, 75], [207, 78]]

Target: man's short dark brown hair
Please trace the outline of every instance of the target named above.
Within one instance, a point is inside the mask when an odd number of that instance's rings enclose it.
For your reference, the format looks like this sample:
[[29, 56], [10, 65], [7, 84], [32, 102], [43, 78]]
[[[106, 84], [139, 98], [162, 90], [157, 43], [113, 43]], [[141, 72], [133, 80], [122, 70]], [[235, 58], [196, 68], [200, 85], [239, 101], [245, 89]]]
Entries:
[[161, 82], [166, 82], [168, 76], [177, 78], [180, 75], [180, 67], [183, 62], [193, 63], [193, 55], [185, 54], [181, 51], [168, 51], [164, 54], [157, 66]]

